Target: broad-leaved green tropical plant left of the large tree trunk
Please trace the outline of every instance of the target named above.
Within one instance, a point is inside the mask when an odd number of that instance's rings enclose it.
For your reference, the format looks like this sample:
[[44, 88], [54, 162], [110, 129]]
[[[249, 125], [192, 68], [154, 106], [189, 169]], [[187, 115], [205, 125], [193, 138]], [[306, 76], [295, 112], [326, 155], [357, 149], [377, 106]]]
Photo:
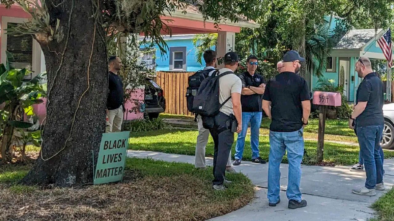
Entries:
[[30, 81], [23, 81], [24, 76], [31, 72], [27, 69], [15, 69], [14, 57], [7, 53], [6, 65], [0, 65], [0, 104], [4, 107], [2, 113], [1, 156], [4, 161], [11, 161], [13, 134], [15, 128], [29, 128], [33, 124], [24, 122], [24, 109], [33, 104], [42, 103], [46, 95], [41, 79], [45, 75], [39, 74]]

